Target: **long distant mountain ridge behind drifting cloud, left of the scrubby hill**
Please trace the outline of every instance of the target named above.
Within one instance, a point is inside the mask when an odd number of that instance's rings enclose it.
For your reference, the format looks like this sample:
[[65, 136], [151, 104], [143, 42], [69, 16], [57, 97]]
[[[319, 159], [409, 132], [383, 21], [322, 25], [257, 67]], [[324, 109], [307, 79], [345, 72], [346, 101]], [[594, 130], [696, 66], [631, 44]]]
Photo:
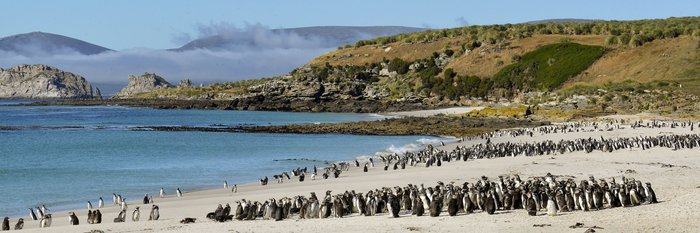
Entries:
[[[265, 30], [264, 32], [235, 32], [228, 35], [214, 35], [193, 40], [174, 51], [187, 51], [194, 49], [226, 50], [231, 48], [255, 48], [265, 47], [259, 33], [266, 36], [281, 36], [286, 41], [289, 38], [298, 36], [301, 39], [314, 40], [317, 45], [325, 47], [335, 47], [346, 44], [353, 44], [358, 40], [372, 39], [381, 36], [391, 36], [402, 33], [413, 33], [427, 30], [426, 28], [400, 27], [400, 26], [317, 26]], [[290, 42], [286, 42], [290, 43]], [[284, 46], [284, 45], [282, 45]], [[303, 45], [302, 45], [303, 46]], [[288, 46], [293, 47], [293, 46]]]

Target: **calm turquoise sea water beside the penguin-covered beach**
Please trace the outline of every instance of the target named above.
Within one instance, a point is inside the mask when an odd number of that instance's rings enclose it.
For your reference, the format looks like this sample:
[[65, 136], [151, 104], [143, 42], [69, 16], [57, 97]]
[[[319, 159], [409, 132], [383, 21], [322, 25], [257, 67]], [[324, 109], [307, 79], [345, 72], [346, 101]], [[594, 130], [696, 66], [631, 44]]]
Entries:
[[[9, 101], [0, 102], [8, 103]], [[416, 148], [425, 136], [293, 135], [132, 131], [154, 125], [282, 125], [377, 120], [373, 114], [155, 110], [117, 106], [0, 106], [0, 216], [26, 208], [83, 208], [112, 193], [140, 200], [160, 187], [174, 193], [256, 181], [297, 167], [308, 158], [350, 160], [381, 151]], [[47, 128], [80, 126], [82, 128]], [[426, 140], [428, 139], [428, 140]]]

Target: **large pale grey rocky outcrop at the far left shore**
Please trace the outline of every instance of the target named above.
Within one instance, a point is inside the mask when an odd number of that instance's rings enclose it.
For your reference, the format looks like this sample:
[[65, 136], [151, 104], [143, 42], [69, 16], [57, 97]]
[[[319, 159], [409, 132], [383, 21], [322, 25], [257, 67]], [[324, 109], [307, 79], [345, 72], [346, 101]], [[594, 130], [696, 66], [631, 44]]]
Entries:
[[0, 98], [91, 99], [85, 78], [47, 65], [19, 65], [0, 69]]

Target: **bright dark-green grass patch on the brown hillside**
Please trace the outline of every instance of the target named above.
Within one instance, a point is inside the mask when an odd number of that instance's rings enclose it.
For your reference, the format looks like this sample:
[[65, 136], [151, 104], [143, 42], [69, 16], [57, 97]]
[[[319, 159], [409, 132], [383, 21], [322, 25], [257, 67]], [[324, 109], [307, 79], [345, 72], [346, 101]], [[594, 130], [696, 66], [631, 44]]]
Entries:
[[558, 43], [542, 46], [494, 75], [494, 85], [512, 91], [552, 90], [603, 56], [601, 46]]

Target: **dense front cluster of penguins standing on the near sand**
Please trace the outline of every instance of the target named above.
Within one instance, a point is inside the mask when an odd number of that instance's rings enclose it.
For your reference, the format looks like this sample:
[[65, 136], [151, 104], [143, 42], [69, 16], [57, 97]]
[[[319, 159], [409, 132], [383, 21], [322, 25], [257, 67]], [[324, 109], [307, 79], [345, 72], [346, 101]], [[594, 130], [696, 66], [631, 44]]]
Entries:
[[[645, 184], [645, 185], [644, 185]], [[234, 207], [221, 204], [206, 215], [208, 219], [226, 222], [231, 220], [275, 220], [297, 216], [299, 219], [342, 218], [358, 214], [375, 216], [386, 213], [398, 218], [401, 215], [429, 215], [438, 217], [444, 212], [458, 214], [487, 213], [523, 209], [529, 215], [558, 212], [596, 211], [602, 209], [633, 207], [658, 203], [651, 183], [639, 180], [611, 178], [576, 182], [572, 178], [557, 180], [547, 174], [523, 181], [519, 176], [490, 180], [483, 176], [473, 183], [461, 185], [437, 182], [434, 187], [408, 184], [404, 187], [383, 187], [367, 193], [345, 191], [337, 195], [326, 191], [323, 198], [311, 192], [308, 197], [295, 196], [269, 199], [265, 202], [242, 199]], [[233, 210], [235, 208], [235, 210]]]

